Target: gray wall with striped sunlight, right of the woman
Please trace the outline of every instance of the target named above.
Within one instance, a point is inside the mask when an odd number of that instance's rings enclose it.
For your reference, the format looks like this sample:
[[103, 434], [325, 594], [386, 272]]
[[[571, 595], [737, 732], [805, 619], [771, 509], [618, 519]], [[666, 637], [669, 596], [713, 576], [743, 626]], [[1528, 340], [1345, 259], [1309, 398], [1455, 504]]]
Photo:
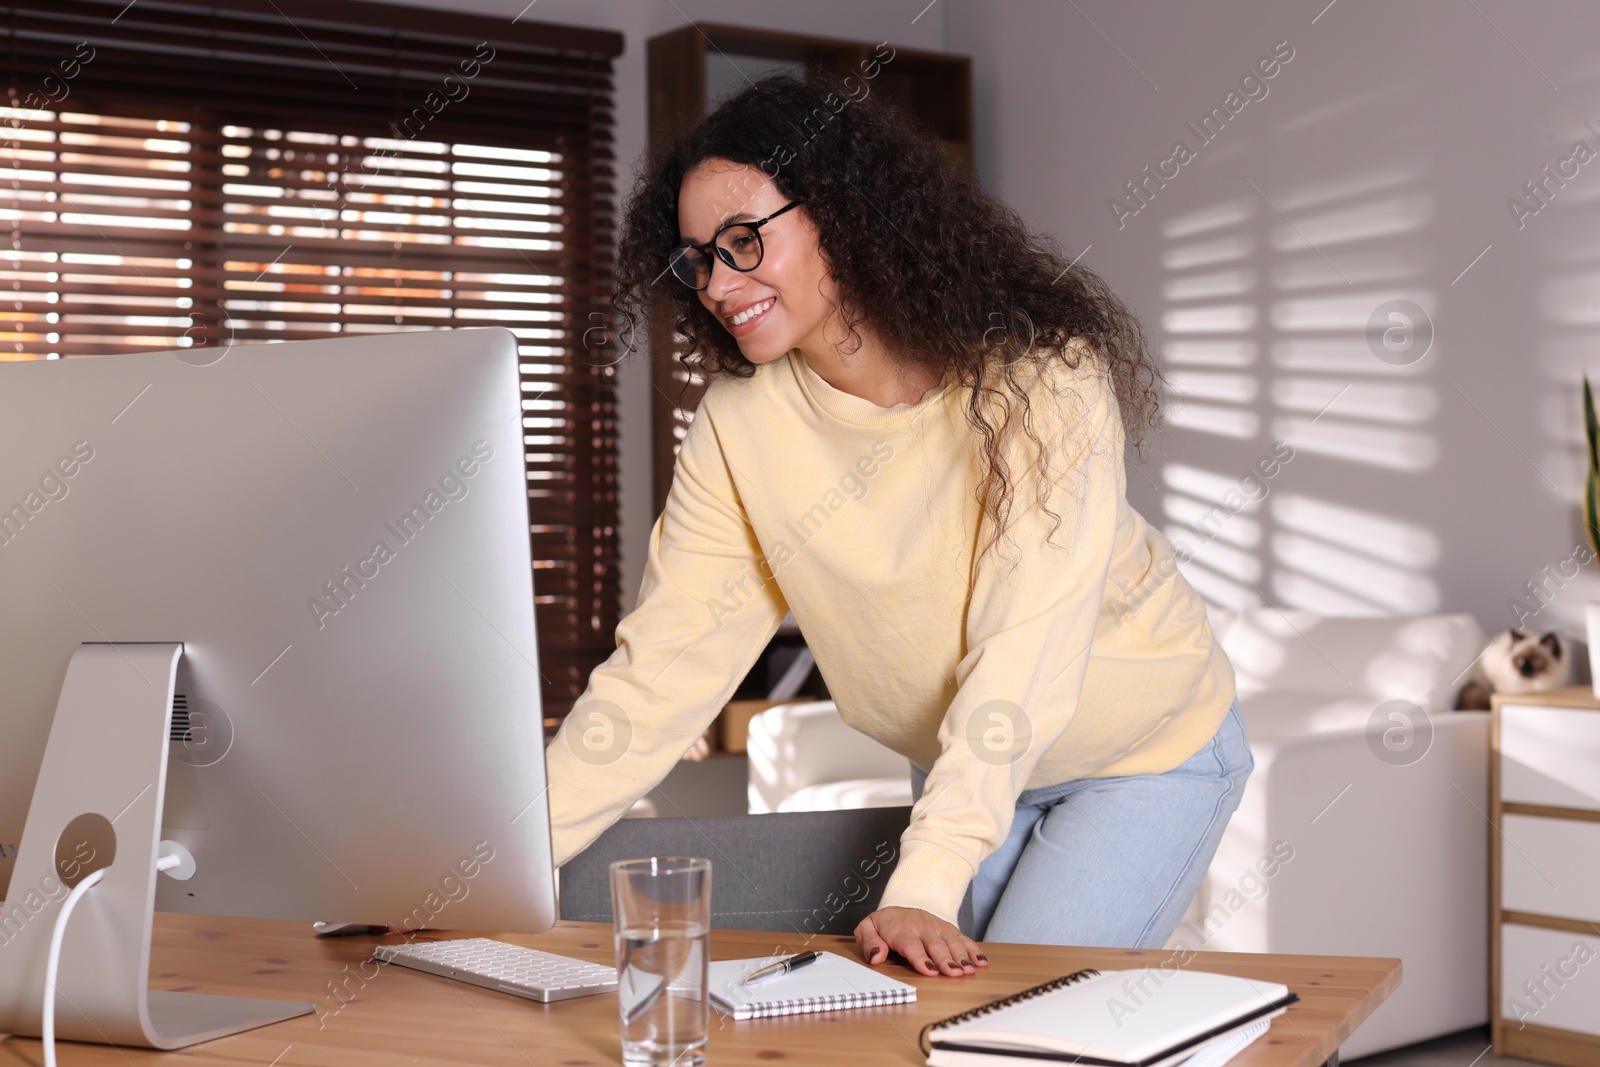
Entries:
[[[1208, 600], [1515, 622], [1507, 600], [1582, 542], [1600, 157], [1549, 182], [1538, 214], [1507, 198], [1539, 206], [1523, 182], [1576, 141], [1600, 154], [1600, 8], [947, 3], [987, 187], [1069, 254], [1088, 246], [1170, 360], [1174, 429], [1128, 494], [1174, 544], [1203, 544], [1186, 573]], [[1186, 123], [1277, 42], [1293, 59], [1202, 146]], [[1131, 200], [1179, 139], [1195, 158]], [[1430, 320], [1426, 355], [1421, 333], [1370, 344], [1389, 301]], [[1259, 504], [1181, 525], [1277, 440], [1294, 459], [1251, 486]], [[1528, 625], [1581, 640], [1592, 569], [1550, 581]]]

